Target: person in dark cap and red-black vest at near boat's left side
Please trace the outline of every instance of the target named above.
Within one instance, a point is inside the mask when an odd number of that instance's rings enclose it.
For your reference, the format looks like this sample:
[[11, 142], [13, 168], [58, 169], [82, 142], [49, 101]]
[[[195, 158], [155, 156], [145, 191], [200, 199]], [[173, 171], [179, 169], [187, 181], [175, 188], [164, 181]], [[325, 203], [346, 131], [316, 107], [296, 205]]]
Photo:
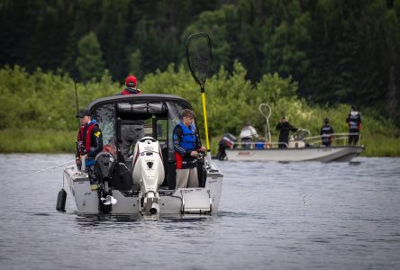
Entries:
[[95, 156], [103, 149], [103, 134], [97, 121], [92, 119], [90, 112], [82, 110], [77, 114], [80, 128], [77, 132], [76, 163], [78, 168], [85, 160], [86, 172], [89, 175], [90, 184], [97, 184], [95, 178]]

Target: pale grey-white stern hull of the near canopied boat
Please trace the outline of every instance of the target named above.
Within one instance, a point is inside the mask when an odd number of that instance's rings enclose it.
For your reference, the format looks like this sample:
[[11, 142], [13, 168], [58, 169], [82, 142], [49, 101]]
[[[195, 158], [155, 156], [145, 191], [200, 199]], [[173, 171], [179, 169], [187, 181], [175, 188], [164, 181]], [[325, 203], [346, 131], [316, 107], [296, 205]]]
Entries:
[[[99, 198], [97, 191], [91, 190], [86, 173], [77, 170], [76, 166], [64, 169], [69, 193], [74, 197], [79, 214], [98, 214]], [[159, 189], [159, 215], [207, 213], [215, 214], [221, 199], [223, 175], [213, 166], [207, 170], [205, 187], [179, 188], [177, 190]], [[141, 214], [140, 193], [112, 190], [116, 203], [112, 205], [111, 214]]]

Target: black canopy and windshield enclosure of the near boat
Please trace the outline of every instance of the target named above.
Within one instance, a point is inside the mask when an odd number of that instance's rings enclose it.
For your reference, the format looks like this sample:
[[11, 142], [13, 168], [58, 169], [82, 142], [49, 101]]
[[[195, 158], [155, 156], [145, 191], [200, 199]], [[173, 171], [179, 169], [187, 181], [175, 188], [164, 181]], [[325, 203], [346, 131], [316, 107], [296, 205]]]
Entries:
[[[137, 123], [144, 125], [144, 136], [159, 140], [161, 149], [165, 149], [168, 160], [175, 158], [172, 133], [182, 111], [187, 107], [171, 101], [134, 103], [108, 103], [95, 109], [92, 116], [99, 123], [103, 133], [105, 150], [116, 153], [117, 137], [121, 126]], [[190, 109], [190, 108], [189, 108]]]

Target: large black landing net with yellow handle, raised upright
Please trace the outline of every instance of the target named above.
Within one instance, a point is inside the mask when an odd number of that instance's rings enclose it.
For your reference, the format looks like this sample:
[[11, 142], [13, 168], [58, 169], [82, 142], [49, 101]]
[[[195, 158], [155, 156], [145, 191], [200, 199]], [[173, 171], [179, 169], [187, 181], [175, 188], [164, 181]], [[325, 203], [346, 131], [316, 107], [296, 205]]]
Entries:
[[[207, 157], [210, 155], [210, 142], [208, 140], [207, 113], [205, 111], [205, 79], [211, 65], [211, 41], [205, 32], [190, 35], [186, 41], [186, 57], [195, 82], [200, 85], [203, 103], [203, 115], [205, 118], [205, 143], [207, 146]], [[209, 162], [211, 164], [211, 162]]]

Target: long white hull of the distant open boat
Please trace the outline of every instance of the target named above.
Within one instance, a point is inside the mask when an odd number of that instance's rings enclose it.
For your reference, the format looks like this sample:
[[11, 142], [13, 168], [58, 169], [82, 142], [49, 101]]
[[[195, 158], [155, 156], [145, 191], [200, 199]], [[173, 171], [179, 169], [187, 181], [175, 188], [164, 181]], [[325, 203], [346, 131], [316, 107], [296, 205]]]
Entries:
[[364, 147], [226, 149], [228, 160], [237, 161], [350, 161]]

